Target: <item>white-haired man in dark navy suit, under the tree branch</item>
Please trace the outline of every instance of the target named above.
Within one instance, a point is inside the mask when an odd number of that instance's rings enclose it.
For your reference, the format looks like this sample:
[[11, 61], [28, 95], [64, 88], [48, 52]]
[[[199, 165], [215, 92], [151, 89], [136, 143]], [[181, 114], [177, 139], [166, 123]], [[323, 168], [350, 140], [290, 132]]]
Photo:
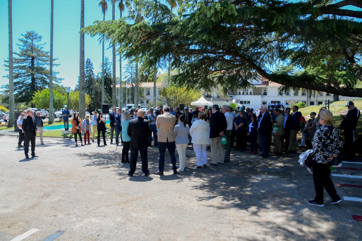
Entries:
[[268, 113], [267, 109], [268, 108], [265, 105], [261, 106], [260, 109], [261, 118], [258, 123], [259, 137], [260, 137], [260, 144], [262, 151], [260, 155], [262, 158], [269, 157], [271, 128], [273, 126], [273, 123], [271, 122], [270, 113]]

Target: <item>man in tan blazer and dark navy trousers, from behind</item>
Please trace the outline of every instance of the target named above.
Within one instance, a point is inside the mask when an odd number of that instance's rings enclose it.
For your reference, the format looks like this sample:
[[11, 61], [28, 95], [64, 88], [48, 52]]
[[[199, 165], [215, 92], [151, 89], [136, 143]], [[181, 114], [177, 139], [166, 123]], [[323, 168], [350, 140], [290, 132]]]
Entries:
[[175, 126], [175, 116], [171, 115], [170, 108], [168, 106], [163, 107], [163, 113], [163, 115], [157, 116], [156, 120], [156, 128], [159, 130], [157, 132], [157, 143], [160, 151], [159, 170], [158, 172], [155, 172], [156, 175], [163, 175], [166, 147], [168, 153], [171, 156], [173, 174], [177, 173], [175, 157], [175, 133], [173, 132], [173, 128]]

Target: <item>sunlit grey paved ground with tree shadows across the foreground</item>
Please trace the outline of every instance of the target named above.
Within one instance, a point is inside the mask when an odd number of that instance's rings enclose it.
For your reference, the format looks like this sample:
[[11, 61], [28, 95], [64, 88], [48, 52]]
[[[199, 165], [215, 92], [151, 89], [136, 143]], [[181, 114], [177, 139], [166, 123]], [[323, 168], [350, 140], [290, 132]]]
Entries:
[[[362, 222], [352, 218], [362, 215], [362, 202], [333, 206], [325, 194], [325, 207], [308, 205], [315, 195], [312, 176], [299, 167], [297, 155], [261, 159], [232, 151], [231, 163], [194, 168], [189, 146], [185, 172], [173, 175], [167, 157], [165, 176], [144, 177], [138, 163], [135, 176], [128, 177], [129, 164], [120, 163], [122, 147], [44, 139], [45, 146], [36, 146], [39, 158], [27, 160], [14, 148], [15, 137], [0, 136], [2, 241], [20, 235], [26, 241], [362, 239]], [[157, 171], [157, 156], [149, 148], [150, 172]], [[333, 178], [361, 185], [358, 178]], [[337, 192], [362, 198], [357, 187], [337, 186]]]

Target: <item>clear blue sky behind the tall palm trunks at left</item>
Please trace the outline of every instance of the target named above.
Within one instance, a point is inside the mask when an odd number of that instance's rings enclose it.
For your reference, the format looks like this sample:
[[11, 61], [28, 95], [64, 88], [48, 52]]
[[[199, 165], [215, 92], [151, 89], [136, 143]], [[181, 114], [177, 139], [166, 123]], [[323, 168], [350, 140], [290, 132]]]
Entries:
[[[35, 2], [37, 2], [35, 4]], [[94, 20], [103, 20], [99, 0], [85, 0], [84, 24], [92, 25]], [[123, 12], [126, 16], [127, 9]], [[120, 17], [116, 4], [115, 19]], [[44, 49], [50, 51], [50, 0], [13, 0], [13, 51], [17, 52], [18, 38], [26, 31], [34, 30], [43, 36], [46, 43]], [[106, 20], [112, 18], [112, 5], [108, 3]], [[4, 60], [9, 55], [8, 50], [8, 1], [0, 0], [0, 85], [9, 83], [5, 71]], [[80, 1], [79, 0], [54, 0], [54, 40], [53, 57], [58, 58], [60, 64], [54, 68], [59, 72], [58, 77], [64, 78], [62, 85], [75, 87], [79, 76], [79, 30], [80, 30]], [[105, 43], [105, 48], [109, 44]], [[112, 50], [106, 49], [105, 56], [112, 60]], [[99, 72], [102, 64], [102, 44], [98, 38], [85, 35], [85, 59], [90, 58], [94, 66], [94, 73]], [[119, 57], [116, 57], [116, 76], [119, 77]], [[126, 61], [122, 62], [124, 66]]]

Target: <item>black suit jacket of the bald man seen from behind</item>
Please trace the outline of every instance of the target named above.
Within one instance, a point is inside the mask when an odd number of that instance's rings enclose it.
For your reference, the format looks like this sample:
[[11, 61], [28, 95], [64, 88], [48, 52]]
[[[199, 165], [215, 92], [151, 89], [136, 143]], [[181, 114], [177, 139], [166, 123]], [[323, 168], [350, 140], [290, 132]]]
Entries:
[[131, 137], [131, 148], [147, 147], [151, 128], [147, 120], [137, 117], [137, 119], [130, 120], [127, 134]]

